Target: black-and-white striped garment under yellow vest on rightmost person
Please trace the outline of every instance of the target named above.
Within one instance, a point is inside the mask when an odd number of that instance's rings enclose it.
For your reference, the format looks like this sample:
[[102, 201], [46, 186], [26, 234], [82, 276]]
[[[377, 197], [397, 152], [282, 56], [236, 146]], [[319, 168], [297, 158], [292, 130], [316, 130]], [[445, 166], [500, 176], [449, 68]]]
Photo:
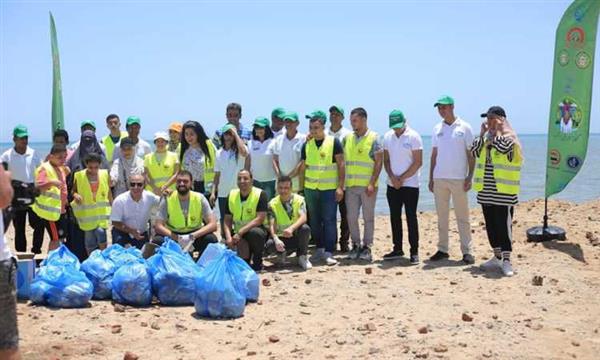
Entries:
[[513, 206], [519, 200], [517, 195], [504, 194], [498, 192], [496, 188], [496, 179], [494, 178], [494, 165], [491, 159], [491, 149], [494, 148], [501, 154], [506, 154], [508, 161], [513, 160], [514, 142], [511, 138], [505, 136], [496, 136], [491, 141], [486, 142], [483, 137], [477, 137], [473, 140], [471, 153], [473, 157], [478, 158], [484, 146], [487, 146], [487, 157], [485, 159], [485, 171], [483, 174], [483, 189], [477, 193], [477, 203], [488, 205]]

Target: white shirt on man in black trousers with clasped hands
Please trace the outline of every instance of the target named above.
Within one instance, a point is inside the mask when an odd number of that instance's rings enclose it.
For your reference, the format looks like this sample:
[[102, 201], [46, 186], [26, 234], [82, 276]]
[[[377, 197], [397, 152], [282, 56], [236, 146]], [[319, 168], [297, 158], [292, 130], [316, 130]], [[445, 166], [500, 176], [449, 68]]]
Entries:
[[[400, 176], [413, 164], [413, 151], [423, 150], [423, 140], [419, 133], [406, 126], [406, 129], [400, 136], [396, 136], [394, 130], [386, 132], [383, 136], [383, 149], [388, 152], [390, 157], [392, 173]], [[417, 170], [413, 176], [404, 180], [402, 186], [418, 188], [420, 175], [421, 169]], [[393, 186], [390, 179], [387, 180], [387, 184]]]

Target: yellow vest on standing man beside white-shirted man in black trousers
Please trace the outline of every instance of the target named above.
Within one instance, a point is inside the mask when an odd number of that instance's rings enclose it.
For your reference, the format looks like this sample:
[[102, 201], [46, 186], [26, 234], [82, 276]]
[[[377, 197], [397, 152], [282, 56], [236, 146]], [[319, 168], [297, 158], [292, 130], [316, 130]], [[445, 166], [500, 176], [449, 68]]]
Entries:
[[344, 144], [346, 187], [369, 185], [375, 169], [375, 161], [371, 159], [369, 152], [375, 141], [377, 141], [377, 133], [371, 130], [368, 130], [358, 142], [355, 134], [346, 136]]

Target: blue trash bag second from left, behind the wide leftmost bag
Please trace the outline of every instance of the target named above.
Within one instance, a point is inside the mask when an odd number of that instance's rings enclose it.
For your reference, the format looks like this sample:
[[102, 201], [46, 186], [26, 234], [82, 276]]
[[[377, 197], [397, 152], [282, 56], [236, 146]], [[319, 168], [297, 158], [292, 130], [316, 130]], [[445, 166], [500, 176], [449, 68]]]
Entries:
[[90, 257], [81, 263], [81, 271], [94, 285], [94, 299], [110, 299], [112, 296], [112, 278], [115, 263], [104, 256], [101, 250], [94, 250]]

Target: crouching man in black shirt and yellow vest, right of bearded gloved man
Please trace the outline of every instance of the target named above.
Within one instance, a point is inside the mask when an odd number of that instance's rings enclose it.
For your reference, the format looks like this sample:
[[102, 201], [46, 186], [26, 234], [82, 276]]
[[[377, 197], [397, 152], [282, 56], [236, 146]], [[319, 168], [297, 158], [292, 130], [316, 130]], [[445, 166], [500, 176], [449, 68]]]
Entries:
[[237, 249], [238, 255], [255, 271], [262, 270], [262, 257], [267, 241], [267, 193], [252, 186], [252, 173], [238, 172], [238, 189], [229, 192], [225, 202], [225, 243]]

